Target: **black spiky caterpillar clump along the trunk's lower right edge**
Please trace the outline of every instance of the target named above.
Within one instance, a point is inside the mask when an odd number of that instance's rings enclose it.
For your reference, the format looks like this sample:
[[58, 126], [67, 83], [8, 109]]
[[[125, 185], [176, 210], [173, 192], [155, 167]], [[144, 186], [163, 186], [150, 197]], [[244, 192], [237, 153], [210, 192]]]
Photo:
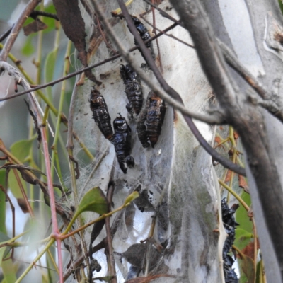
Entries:
[[228, 254], [231, 246], [233, 245], [233, 241], [235, 240], [235, 226], [238, 225], [238, 223], [235, 221], [235, 217], [233, 216], [237, 208], [238, 204], [234, 204], [230, 209], [226, 203], [226, 199], [224, 198], [221, 200], [222, 221], [224, 229], [228, 234], [223, 246], [223, 268], [226, 283], [238, 283], [236, 272], [232, 269], [234, 260], [231, 255]]

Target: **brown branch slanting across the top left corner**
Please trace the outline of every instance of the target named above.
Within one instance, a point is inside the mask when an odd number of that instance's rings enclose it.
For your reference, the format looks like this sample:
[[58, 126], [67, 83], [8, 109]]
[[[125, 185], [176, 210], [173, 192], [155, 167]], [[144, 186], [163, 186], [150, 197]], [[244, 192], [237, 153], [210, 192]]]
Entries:
[[20, 17], [18, 18], [18, 21], [13, 25], [13, 28], [11, 30], [11, 33], [8, 37], [8, 40], [6, 41], [3, 50], [0, 54], [0, 61], [6, 61], [8, 54], [13, 47], [13, 44], [18, 36], [18, 33], [20, 32], [23, 23], [25, 23], [25, 20], [28, 18], [30, 13], [33, 11], [33, 9], [37, 6], [37, 4], [40, 3], [40, 0], [30, 0], [28, 5], [25, 7], [23, 12], [21, 13]]

